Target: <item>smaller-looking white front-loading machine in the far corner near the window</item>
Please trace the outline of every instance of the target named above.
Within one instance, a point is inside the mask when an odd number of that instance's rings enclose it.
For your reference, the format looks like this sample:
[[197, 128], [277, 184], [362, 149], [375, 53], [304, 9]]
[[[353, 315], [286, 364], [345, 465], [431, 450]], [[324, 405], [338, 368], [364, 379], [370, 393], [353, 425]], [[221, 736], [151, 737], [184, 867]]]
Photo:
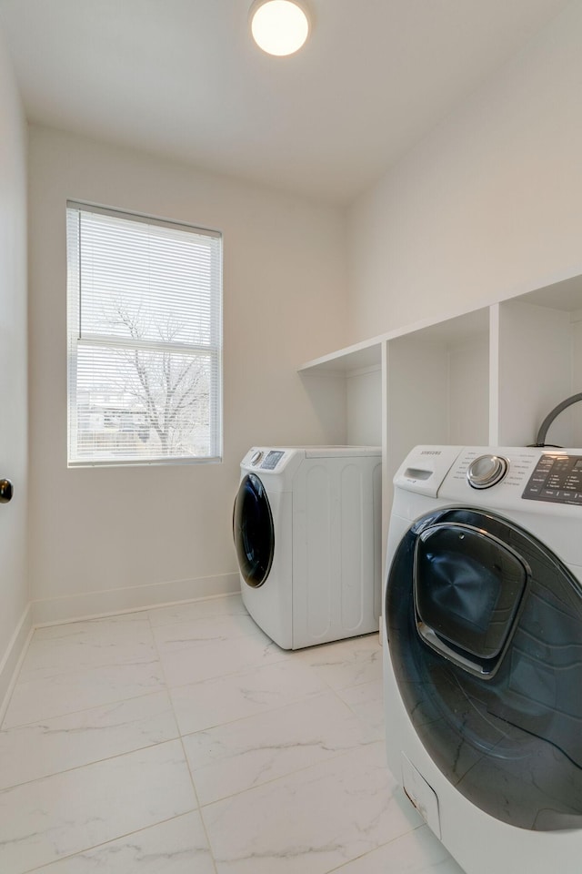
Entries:
[[377, 633], [381, 469], [368, 446], [256, 446], [241, 462], [241, 594], [283, 649]]

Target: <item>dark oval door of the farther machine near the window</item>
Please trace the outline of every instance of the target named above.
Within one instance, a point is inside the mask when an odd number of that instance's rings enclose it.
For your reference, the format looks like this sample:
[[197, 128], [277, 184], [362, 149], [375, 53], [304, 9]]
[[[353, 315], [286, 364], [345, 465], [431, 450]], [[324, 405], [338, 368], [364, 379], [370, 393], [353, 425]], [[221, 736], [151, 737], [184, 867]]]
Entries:
[[233, 511], [233, 536], [240, 573], [256, 588], [266, 581], [275, 552], [275, 531], [265, 486], [255, 473], [240, 483]]

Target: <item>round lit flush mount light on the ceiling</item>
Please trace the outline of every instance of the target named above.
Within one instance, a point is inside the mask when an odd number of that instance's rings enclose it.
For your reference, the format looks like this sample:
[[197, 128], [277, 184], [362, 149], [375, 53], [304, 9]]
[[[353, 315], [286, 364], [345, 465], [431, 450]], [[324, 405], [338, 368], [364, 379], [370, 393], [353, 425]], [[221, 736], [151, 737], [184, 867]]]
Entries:
[[305, 4], [296, 0], [255, 0], [249, 18], [256, 45], [268, 55], [293, 55], [311, 29]]

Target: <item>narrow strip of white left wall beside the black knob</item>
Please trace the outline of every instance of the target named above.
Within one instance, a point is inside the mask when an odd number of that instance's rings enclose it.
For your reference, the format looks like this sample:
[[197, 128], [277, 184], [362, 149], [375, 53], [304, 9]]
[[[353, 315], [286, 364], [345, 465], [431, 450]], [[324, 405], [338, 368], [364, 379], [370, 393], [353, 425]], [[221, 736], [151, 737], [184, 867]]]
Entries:
[[26, 131], [0, 37], [0, 477], [14, 484], [0, 504], [0, 703], [28, 625], [26, 612]]

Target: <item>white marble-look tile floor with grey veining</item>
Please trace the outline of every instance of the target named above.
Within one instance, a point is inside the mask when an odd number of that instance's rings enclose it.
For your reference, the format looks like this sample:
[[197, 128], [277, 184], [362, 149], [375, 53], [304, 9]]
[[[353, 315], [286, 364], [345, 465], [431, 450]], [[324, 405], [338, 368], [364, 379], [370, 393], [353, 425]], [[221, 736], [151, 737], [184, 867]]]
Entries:
[[288, 653], [238, 595], [39, 628], [2, 874], [462, 874], [385, 765], [377, 635]]

